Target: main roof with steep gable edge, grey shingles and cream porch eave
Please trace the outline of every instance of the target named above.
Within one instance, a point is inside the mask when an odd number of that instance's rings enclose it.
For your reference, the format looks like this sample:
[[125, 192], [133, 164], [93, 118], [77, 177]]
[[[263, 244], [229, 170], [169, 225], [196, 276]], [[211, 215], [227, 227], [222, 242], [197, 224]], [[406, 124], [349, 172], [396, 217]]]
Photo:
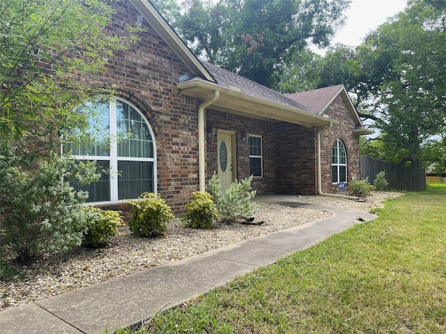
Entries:
[[178, 82], [177, 87], [181, 93], [211, 100], [214, 92], [218, 90], [220, 98], [209, 105], [209, 108], [245, 113], [267, 120], [284, 120], [307, 127], [339, 123], [337, 120], [309, 113], [300, 103], [275, 90], [199, 61], [151, 1], [132, 0], [130, 3], [192, 73], [190, 76], [186, 74], [181, 82]]

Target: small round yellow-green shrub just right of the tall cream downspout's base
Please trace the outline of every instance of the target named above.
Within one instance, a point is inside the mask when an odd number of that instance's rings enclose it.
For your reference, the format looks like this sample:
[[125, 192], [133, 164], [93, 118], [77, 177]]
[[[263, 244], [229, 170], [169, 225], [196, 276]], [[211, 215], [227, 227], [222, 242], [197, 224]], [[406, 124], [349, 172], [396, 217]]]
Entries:
[[194, 198], [186, 204], [185, 209], [182, 220], [188, 228], [209, 229], [214, 221], [218, 221], [217, 206], [209, 193], [195, 191]]

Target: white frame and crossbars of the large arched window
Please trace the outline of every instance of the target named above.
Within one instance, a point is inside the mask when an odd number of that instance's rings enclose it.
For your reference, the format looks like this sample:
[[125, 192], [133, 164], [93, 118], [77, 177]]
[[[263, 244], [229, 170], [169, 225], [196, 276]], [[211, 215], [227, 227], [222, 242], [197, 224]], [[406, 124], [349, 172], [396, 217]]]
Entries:
[[[110, 125], [110, 155], [109, 156], [95, 156], [95, 155], [72, 155], [74, 159], [80, 161], [109, 161], [109, 180], [110, 180], [110, 200], [109, 201], [101, 201], [101, 202], [89, 202], [89, 204], [100, 205], [100, 204], [111, 204], [111, 203], [119, 203], [124, 200], [118, 199], [118, 161], [141, 161], [141, 162], [153, 162], [153, 193], [157, 193], [157, 149], [156, 149], [156, 141], [155, 136], [153, 134], [153, 130], [151, 125], [148, 123], [146, 116], [144, 116], [141, 111], [134, 106], [131, 102], [122, 99], [121, 97], [98, 97], [98, 99], [107, 98], [109, 102], [109, 125]], [[141, 118], [146, 122], [149, 132], [152, 136], [152, 145], [153, 145], [153, 158], [140, 158], [140, 157], [118, 157], [118, 141], [117, 141], [117, 127], [116, 127], [116, 101], [120, 100], [129, 106], [131, 106]], [[135, 198], [126, 198], [127, 199], [135, 199]]]

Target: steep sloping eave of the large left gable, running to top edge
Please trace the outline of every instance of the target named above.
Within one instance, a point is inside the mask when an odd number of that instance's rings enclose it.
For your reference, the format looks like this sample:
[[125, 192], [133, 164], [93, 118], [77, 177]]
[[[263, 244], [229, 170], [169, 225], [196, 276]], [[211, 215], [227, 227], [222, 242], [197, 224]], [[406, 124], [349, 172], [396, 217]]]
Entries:
[[202, 77], [209, 81], [214, 81], [212, 74], [206, 70], [206, 67], [201, 64], [199, 59], [194, 56], [192, 51], [185, 45], [180, 36], [172, 29], [169, 23], [160, 15], [155, 7], [147, 0], [133, 0], [130, 1], [132, 6], [146, 19], [151, 27], [158, 35], [169, 45], [176, 56], [186, 65], [186, 67], [197, 77]]

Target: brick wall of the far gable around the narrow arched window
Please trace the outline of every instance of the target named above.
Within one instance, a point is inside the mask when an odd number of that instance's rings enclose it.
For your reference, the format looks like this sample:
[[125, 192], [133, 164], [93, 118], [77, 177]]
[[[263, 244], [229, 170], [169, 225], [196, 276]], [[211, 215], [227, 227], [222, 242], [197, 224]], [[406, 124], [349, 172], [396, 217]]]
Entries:
[[325, 111], [325, 115], [339, 120], [339, 125], [333, 125], [328, 132], [321, 134], [321, 173], [322, 191], [327, 193], [338, 193], [337, 184], [332, 184], [331, 154], [332, 146], [336, 139], [340, 139], [347, 151], [347, 182], [355, 176], [360, 178], [360, 152], [359, 136], [353, 135], [355, 123], [346, 104], [339, 95]]

